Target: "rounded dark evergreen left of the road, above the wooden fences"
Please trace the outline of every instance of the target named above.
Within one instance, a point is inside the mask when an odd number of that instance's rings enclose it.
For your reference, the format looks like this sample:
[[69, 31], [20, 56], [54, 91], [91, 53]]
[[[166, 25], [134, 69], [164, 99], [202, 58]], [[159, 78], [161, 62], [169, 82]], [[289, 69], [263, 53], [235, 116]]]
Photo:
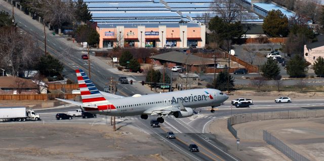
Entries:
[[63, 64], [50, 54], [43, 55], [35, 65], [35, 69], [45, 76], [61, 76]]

